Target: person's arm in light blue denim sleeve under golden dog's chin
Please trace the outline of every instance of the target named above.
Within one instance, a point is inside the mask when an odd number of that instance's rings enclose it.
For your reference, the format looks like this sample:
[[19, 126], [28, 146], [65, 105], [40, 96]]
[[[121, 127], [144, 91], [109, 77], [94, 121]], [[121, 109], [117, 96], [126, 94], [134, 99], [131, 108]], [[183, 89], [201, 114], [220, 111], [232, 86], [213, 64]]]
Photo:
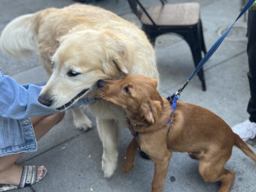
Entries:
[[[33, 84], [20, 85], [9, 76], [0, 77], [0, 116], [25, 119], [61, 112], [38, 102], [41, 89]], [[93, 98], [81, 99], [72, 108], [93, 101]]]

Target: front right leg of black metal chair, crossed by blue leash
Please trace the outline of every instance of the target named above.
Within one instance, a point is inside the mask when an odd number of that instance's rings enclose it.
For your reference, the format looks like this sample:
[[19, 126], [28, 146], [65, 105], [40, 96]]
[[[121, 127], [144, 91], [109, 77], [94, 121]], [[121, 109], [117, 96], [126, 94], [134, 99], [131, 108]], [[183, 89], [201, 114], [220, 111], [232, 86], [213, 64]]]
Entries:
[[[201, 53], [201, 43], [200, 43], [200, 33], [198, 32], [198, 30], [195, 30], [193, 32], [190, 33], [190, 37], [188, 39], [186, 39], [186, 41], [189, 43], [192, 55], [193, 55], [193, 60], [194, 60], [194, 64], [195, 67], [198, 66], [199, 62], [202, 59], [202, 53]], [[198, 71], [198, 77], [202, 83], [202, 90], [205, 91], [206, 90], [206, 84], [205, 84], [205, 80], [204, 80], [204, 70], [203, 67]]]

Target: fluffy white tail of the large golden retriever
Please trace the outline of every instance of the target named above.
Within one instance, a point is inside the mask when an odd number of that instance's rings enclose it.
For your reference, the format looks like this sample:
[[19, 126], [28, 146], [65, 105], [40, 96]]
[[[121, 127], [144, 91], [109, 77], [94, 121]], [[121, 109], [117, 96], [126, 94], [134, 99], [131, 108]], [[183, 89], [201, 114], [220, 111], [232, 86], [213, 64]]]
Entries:
[[37, 50], [34, 14], [22, 15], [3, 29], [0, 49], [9, 55], [22, 58]]

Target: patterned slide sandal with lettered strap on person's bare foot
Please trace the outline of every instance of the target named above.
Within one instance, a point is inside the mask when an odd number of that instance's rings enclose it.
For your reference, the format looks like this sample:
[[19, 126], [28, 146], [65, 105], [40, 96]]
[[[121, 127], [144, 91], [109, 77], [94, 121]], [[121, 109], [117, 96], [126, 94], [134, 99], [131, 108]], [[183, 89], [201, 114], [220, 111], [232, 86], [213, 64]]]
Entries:
[[45, 175], [47, 174], [47, 169], [44, 168], [43, 175], [37, 180], [37, 166], [23, 166], [23, 171], [20, 179], [20, 185], [6, 185], [6, 184], [0, 184], [0, 192], [9, 191], [13, 189], [21, 189], [24, 187], [31, 186], [35, 183], [38, 183], [38, 181], [42, 180]]

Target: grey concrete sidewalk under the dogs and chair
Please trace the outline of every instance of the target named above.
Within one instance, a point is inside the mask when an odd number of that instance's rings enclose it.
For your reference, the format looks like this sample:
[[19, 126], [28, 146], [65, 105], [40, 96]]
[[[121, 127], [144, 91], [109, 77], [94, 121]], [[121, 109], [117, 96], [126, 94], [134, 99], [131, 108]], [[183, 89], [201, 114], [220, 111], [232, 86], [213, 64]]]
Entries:
[[[192, 0], [169, 0], [169, 3]], [[218, 39], [218, 30], [230, 26], [240, 13], [240, 0], [195, 0], [201, 3], [201, 19], [204, 37], [209, 49]], [[142, 0], [145, 6], [157, 4], [156, 0]], [[74, 3], [72, 0], [1, 0], [0, 31], [13, 18], [45, 9], [63, 7]], [[100, 0], [95, 3], [111, 10], [121, 17], [140, 25], [131, 13], [126, 0]], [[238, 21], [239, 28], [230, 32], [229, 40], [224, 40], [204, 67], [207, 91], [201, 90], [201, 82], [195, 77], [181, 95], [181, 100], [203, 106], [221, 116], [230, 126], [244, 121], [250, 98], [247, 80], [246, 23]], [[239, 37], [238, 37], [239, 36]], [[240, 39], [240, 41], [238, 41]], [[160, 73], [160, 92], [169, 96], [183, 86], [194, 70], [189, 46], [176, 35], [163, 35], [157, 39], [155, 52]], [[3, 73], [12, 76], [19, 83], [39, 83], [47, 81], [47, 75], [38, 57], [32, 55], [27, 60], [17, 60], [0, 52], [0, 67]], [[87, 113], [93, 119], [95, 118]], [[130, 174], [123, 174], [125, 150], [131, 140], [128, 129], [121, 130], [119, 162], [116, 172], [105, 179], [101, 170], [102, 143], [96, 128], [81, 132], [76, 130], [70, 112], [64, 120], [52, 128], [38, 142], [38, 151], [24, 154], [18, 163], [30, 165], [44, 164], [48, 175], [41, 182], [20, 192], [148, 192], [154, 164], [136, 156], [136, 164]], [[256, 140], [248, 142], [256, 152]], [[232, 191], [256, 191], [256, 166], [236, 147], [226, 167], [236, 172]], [[170, 179], [172, 177], [172, 179]], [[174, 179], [175, 178], [175, 179]], [[215, 192], [219, 183], [204, 183], [198, 174], [198, 161], [185, 153], [174, 153], [164, 186], [164, 192]]]

